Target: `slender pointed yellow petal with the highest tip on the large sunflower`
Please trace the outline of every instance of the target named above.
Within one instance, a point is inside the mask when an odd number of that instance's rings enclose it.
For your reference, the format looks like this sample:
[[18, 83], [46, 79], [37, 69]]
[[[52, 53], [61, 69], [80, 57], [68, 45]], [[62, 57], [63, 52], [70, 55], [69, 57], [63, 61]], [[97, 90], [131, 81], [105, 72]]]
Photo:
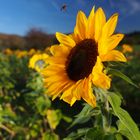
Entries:
[[95, 6], [92, 8], [91, 12], [90, 12], [90, 15], [88, 17], [88, 23], [87, 23], [87, 35], [86, 35], [86, 38], [94, 38], [94, 32], [95, 32], [95, 29], [94, 29], [94, 10], [95, 10]]

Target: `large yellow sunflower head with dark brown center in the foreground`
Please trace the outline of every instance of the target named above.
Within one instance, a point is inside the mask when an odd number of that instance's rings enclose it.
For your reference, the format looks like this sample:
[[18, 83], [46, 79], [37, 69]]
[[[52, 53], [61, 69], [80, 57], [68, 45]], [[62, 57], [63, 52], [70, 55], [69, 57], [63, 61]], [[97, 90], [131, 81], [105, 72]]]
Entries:
[[102, 8], [89, 17], [79, 11], [74, 32], [69, 35], [56, 33], [60, 42], [50, 48], [52, 56], [46, 59], [49, 65], [43, 69], [44, 85], [48, 94], [71, 106], [76, 100], [85, 100], [95, 107], [94, 87], [109, 89], [111, 79], [104, 73], [105, 61], [125, 62], [125, 56], [114, 48], [123, 38], [123, 34], [114, 34], [118, 14], [108, 21]]

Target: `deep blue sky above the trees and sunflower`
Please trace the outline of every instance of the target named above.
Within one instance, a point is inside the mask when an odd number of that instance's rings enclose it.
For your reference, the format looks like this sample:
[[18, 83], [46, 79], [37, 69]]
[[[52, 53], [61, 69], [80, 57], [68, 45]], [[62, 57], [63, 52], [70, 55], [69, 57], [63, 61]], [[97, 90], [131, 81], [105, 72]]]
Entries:
[[[66, 11], [61, 6], [67, 5]], [[0, 32], [25, 35], [32, 28], [48, 33], [72, 32], [77, 12], [103, 7], [107, 17], [119, 13], [117, 32], [140, 31], [140, 0], [0, 0]]]

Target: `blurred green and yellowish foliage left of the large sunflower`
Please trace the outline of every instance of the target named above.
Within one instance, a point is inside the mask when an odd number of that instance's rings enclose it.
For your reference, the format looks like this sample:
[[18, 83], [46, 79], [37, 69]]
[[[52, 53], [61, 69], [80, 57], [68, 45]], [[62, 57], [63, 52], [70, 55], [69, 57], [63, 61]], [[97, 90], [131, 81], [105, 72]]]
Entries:
[[71, 118], [52, 106], [42, 76], [28, 68], [28, 59], [0, 53], [0, 138], [58, 140], [57, 126]]

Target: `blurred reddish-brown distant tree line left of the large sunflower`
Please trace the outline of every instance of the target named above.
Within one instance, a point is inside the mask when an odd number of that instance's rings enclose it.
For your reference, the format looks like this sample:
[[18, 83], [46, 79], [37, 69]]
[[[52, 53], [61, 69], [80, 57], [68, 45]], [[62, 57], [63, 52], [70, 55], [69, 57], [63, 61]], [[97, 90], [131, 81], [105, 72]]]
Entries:
[[0, 34], [0, 49], [45, 49], [58, 43], [54, 34], [48, 34], [41, 29], [32, 28], [25, 36]]

